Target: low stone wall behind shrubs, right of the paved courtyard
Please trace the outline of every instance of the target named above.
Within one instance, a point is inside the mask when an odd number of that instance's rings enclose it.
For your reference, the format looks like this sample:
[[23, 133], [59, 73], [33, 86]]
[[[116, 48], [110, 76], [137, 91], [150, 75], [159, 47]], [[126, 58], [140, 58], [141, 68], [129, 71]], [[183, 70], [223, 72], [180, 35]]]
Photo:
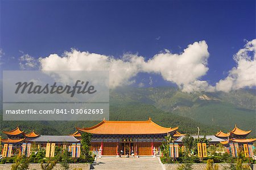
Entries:
[[[164, 164], [164, 168], [166, 170], [177, 170], [177, 168], [182, 164]], [[213, 164], [215, 165], [215, 164]], [[229, 164], [217, 164], [219, 170], [223, 170], [224, 167], [229, 167]], [[249, 164], [243, 164], [243, 165], [249, 165]], [[196, 170], [205, 170], [207, 167], [207, 164], [192, 164], [192, 168]], [[251, 165], [251, 168], [253, 170], [256, 170], [256, 164]]]

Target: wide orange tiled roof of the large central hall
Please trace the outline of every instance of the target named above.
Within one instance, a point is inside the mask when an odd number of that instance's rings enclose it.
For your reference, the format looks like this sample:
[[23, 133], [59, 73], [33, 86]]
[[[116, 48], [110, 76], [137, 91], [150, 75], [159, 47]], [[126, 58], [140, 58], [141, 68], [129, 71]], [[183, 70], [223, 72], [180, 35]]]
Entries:
[[101, 121], [95, 126], [79, 128], [91, 134], [166, 134], [175, 132], [179, 127], [162, 127], [151, 121]]

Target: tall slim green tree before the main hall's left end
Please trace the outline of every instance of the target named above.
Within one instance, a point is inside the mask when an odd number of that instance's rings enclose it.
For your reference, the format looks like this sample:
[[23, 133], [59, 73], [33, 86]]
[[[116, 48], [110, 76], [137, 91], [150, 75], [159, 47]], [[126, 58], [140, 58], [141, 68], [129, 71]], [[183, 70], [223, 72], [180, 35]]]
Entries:
[[84, 159], [86, 163], [93, 163], [94, 159], [92, 154], [90, 153], [90, 140], [92, 138], [92, 134], [88, 132], [84, 132], [81, 135], [81, 158]]

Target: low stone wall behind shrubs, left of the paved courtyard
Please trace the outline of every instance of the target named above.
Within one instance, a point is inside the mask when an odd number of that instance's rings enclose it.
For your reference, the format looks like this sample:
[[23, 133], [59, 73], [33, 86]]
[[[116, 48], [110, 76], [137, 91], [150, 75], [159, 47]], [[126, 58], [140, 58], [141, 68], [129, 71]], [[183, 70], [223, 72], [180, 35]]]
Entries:
[[[10, 170], [12, 164], [0, 164], [1, 170]], [[41, 170], [41, 164], [30, 164], [29, 170]], [[72, 170], [89, 170], [90, 164], [69, 164], [69, 169]], [[61, 164], [56, 164], [53, 170], [64, 170]]]

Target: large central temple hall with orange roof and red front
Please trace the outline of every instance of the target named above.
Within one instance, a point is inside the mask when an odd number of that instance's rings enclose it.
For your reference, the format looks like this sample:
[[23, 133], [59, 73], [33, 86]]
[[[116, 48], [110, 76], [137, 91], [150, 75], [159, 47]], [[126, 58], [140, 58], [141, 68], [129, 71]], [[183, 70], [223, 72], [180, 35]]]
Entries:
[[[167, 134], [174, 135], [178, 127], [162, 127], [151, 121], [106, 121], [95, 126], [80, 128], [79, 132], [92, 134], [91, 151], [102, 148], [102, 155], [153, 155], [159, 150]], [[76, 134], [74, 134], [76, 135]]]

